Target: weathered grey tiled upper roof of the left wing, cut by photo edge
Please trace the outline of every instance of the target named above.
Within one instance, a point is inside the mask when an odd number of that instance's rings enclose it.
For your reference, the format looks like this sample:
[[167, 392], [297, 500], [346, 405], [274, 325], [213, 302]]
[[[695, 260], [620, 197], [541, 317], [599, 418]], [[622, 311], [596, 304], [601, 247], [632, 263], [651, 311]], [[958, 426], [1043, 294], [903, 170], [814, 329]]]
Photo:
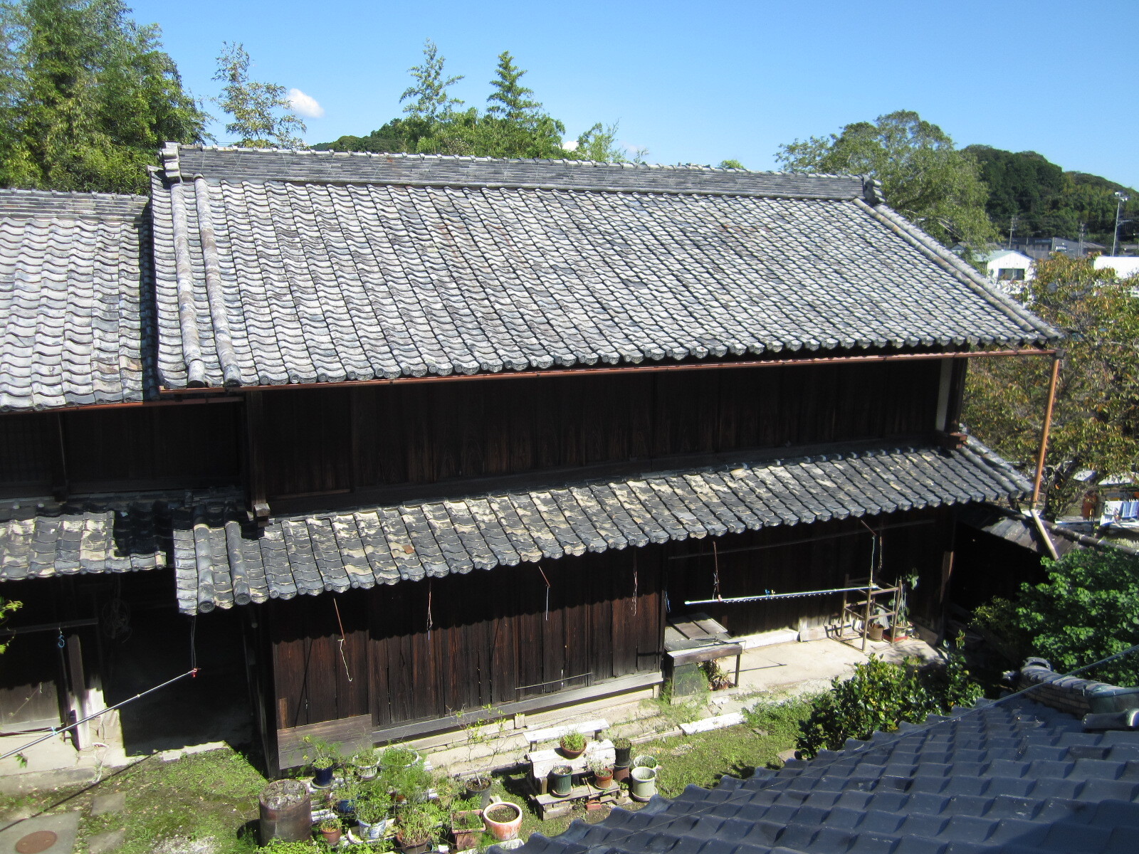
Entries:
[[0, 190], [0, 412], [142, 400], [146, 204]]

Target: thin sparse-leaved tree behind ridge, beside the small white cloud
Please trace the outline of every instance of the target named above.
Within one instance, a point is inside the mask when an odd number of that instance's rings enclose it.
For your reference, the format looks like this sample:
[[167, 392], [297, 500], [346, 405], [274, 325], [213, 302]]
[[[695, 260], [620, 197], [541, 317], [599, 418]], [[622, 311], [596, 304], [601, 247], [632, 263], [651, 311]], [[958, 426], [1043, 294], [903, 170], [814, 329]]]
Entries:
[[226, 132], [243, 148], [304, 148], [305, 124], [292, 110], [279, 83], [249, 80], [249, 55], [240, 42], [222, 42], [214, 80], [223, 82], [218, 105], [233, 121]]

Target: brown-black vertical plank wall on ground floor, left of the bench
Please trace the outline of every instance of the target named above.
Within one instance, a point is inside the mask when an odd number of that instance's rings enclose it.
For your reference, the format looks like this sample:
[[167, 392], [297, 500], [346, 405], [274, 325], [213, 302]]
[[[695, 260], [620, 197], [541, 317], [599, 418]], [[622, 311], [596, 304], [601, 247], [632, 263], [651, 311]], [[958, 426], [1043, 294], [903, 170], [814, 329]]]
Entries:
[[271, 611], [278, 729], [361, 714], [377, 726], [442, 717], [658, 670], [661, 550], [403, 582]]

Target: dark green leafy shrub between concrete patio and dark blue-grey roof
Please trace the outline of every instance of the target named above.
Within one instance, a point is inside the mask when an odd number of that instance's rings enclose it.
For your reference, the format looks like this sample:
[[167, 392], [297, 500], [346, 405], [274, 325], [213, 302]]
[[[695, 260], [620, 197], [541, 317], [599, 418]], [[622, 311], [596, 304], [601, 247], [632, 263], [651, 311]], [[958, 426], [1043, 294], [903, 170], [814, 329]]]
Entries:
[[849, 680], [835, 679], [802, 723], [795, 746], [806, 758], [819, 750], [838, 750], [849, 738], [868, 739], [893, 732], [903, 721], [920, 723], [953, 706], [972, 706], [981, 685], [969, 679], [960, 655], [950, 652], [944, 670], [923, 671], [870, 656], [854, 665]]

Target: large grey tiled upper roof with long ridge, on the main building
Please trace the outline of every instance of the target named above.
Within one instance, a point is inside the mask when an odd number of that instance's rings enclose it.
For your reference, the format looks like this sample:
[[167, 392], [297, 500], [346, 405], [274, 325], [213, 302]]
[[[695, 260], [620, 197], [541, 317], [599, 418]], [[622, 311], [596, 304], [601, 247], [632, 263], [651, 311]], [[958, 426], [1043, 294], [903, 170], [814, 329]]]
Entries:
[[173, 145], [163, 161], [171, 388], [1058, 335], [858, 178]]

